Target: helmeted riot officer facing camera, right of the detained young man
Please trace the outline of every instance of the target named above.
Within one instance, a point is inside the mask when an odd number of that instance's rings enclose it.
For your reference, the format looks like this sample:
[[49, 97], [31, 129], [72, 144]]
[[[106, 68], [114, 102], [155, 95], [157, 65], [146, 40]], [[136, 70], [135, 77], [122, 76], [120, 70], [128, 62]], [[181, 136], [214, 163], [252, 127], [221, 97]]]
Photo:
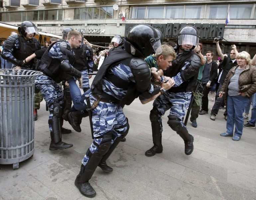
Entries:
[[182, 121], [201, 66], [199, 56], [193, 52], [198, 41], [199, 35], [195, 27], [184, 26], [179, 30], [176, 47], [177, 58], [172, 62], [172, 67], [166, 70], [166, 76], [172, 77], [175, 85], [153, 103], [150, 121], [154, 146], [145, 152], [146, 156], [153, 156], [163, 151], [161, 117], [169, 109], [168, 125], [184, 140], [185, 154], [190, 155], [193, 151], [193, 136], [188, 133], [188, 129]]

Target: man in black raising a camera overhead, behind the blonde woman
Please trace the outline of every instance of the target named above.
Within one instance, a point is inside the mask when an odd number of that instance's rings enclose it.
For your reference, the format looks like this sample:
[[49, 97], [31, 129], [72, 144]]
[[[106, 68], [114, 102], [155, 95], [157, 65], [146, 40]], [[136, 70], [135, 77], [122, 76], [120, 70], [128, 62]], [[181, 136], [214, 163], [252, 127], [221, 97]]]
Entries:
[[[221, 38], [222, 40], [222, 38]], [[215, 100], [215, 103], [211, 109], [211, 116], [210, 116], [210, 119], [211, 120], [215, 120], [216, 118], [216, 115], [218, 114], [218, 111], [219, 111], [219, 108], [222, 104], [222, 102], [224, 101], [224, 96], [222, 98], [219, 97], [219, 90], [221, 89], [222, 87], [222, 84], [227, 76], [227, 73], [228, 71], [237, 65], [236, 63], [236, 55], [238, 53], [238, 51], [236, 50], [236, 46], [235, 45], [231, 45], [232, 47], [232, 50], [230, 51], [230, 55], [224, 55], [222, 52], [221, 52], [221, 49], [220, 49], [220, 46], [219, 46], [219, 41], [220, 41], [220, 38], [215, 38], [214, 39], [215, 43], [216, 43], [216, 47], [217, 47], [217, 52], [219, 54], [219, 57], [221, 58], [222, 60], [222, 70], [219, 72], [218, 74], [218, 83], [219, 83], [219, 87], [218, 87], [218, 91], [216, 93], [216, 96], [217, 96], [217, 99]], [[225, 116], [225, 120], [227, 118], [227, 114], [226, 112], [224, 113], [224, 116]]]

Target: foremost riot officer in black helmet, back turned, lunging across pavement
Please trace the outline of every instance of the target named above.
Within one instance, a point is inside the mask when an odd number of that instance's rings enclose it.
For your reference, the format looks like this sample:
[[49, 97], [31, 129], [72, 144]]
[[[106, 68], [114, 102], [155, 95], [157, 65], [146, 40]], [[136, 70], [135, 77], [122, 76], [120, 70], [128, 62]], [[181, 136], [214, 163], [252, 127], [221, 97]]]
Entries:
[[123, 41], [121, 48], [109, 54], [91, 85], [90, 101], [96, 106], [92, 110], [94, 140], [75, 179], [76, 187], [86, 197], [96, 195], [88, 182], [96, 167], [105, 172], [113, 170], [106, 159], [128, 133], [129, 124], [122, 107], [138, 95], [150, 98], [154, 90], [149, 67], [143, 58], [161, 48], [157, 32], [149, 25], [136, 25]]

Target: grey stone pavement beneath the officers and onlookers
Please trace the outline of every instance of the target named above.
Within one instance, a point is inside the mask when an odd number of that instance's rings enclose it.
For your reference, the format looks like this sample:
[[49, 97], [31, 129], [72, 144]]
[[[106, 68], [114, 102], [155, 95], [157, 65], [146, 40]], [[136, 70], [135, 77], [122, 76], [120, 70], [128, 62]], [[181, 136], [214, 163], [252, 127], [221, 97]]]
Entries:
[[[209, 101], [209, 108], [213, 102]], [[94, 199], [256, 199], [256, 132], [244, 128], [240, 141], [221, 137], [225, 132], [224, 110], [215, 121], [199, 115], [198, 127], [188, 123], [194, 151], [184, 153], [184, 143], [163, 117], [163, 153], [146, 157], [152, 147], [149, 112], [152, 103], [136, 99], [124, 108], [130, 131], [107, 160], [113, 172], [96, 169], [90, 183]], [[92, 142], [88, 119], [82, 132], [72, 130], [63, 141], [74, 146], [49, 151], [50, 134], [45, 102], [35, 122], [34, 155], [13, 170], [0, 165], [0, 199], [86, 199], [74, 185], [81, 159]], [[245, 120], [246, 122], [246, 120]], [[64, 122], [64, 127], [72, 129]]]

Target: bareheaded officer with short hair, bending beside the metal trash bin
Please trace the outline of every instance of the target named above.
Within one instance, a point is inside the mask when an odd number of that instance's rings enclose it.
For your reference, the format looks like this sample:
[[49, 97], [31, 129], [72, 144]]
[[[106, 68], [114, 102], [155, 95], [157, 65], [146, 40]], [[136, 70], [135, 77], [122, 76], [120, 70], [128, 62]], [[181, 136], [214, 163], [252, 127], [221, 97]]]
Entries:
[[71, 65], [75, 59], [72, 49], [78, 48], [81, 41], [80, 32], [70, 31], [66, 41], [58, 41], [45, 51], [38, 66], [38, 70], [42, 71], [43, 75], [35, 78], [35, 86], [41, 91], [50, 111], [51, 144], [49, 150], [63, 150], [73, 146], [62, 142], [64, 94], [58, 82], [66, 77], [73, 78], [73, 76], [81, 80], [81, 72]]

